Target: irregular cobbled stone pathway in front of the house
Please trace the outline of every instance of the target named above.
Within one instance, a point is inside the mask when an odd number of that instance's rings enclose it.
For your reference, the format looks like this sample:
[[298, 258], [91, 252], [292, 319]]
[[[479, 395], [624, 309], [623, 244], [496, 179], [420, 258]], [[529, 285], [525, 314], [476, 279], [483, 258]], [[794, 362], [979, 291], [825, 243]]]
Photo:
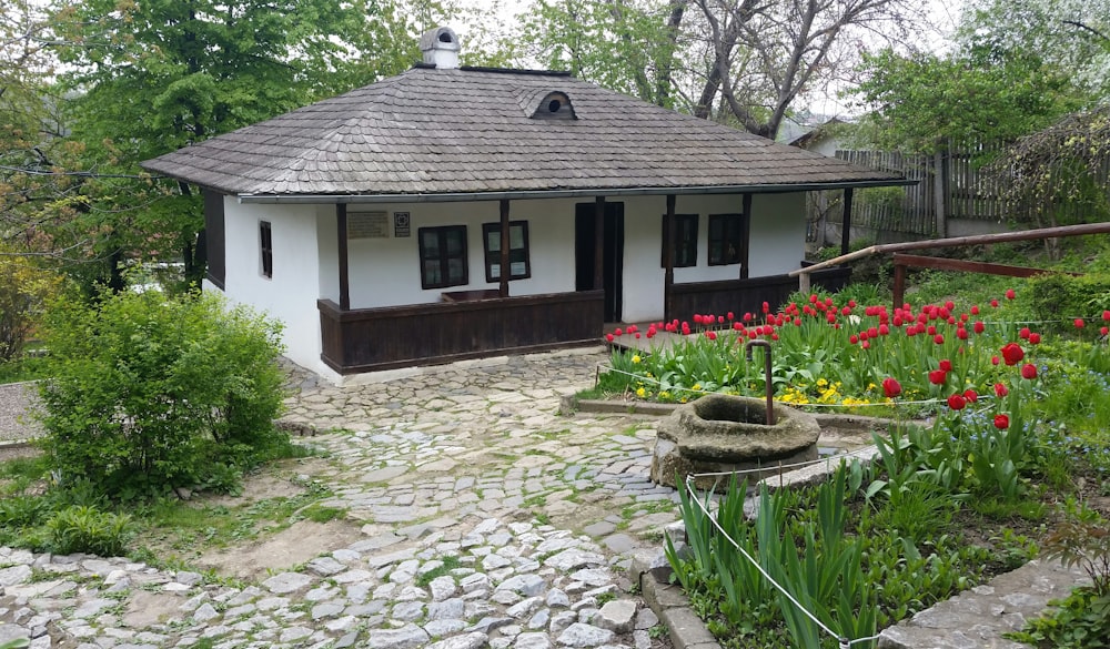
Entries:
[[320, 433], [312, 476], [362, 526], [258, 584], [124, 559], [0, 549], [0, 642], [154, 647], [658, 646], [627, 592], [675, 491], [648, 479], [655, 422], [557, 414], [602, 354], [460, 364], [335, 388], [304, 377], [287, 419]]

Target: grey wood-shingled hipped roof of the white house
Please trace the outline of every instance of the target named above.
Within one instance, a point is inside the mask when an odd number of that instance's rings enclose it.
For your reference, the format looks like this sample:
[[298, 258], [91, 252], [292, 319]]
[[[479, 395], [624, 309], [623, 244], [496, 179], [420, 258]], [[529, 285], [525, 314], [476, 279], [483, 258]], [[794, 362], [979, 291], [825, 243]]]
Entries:
[[[559, 113], [564, 119], [544, 119], [549, 97], [569, 100], [564, 109], [571, 110]], [[142, 166], [248, 200], [795, 191], [906, 182], [562, 73], [428, 65]]]

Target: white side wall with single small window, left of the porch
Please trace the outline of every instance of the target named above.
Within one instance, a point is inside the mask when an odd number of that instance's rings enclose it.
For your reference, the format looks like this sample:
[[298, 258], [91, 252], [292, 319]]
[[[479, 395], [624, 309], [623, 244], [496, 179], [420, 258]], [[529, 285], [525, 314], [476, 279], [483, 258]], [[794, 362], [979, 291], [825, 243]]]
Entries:
[[[333, 373], [320, 359], [316, 311], [321, 294], [316, 214], [329, 210], [334, 213], [331, 206], [241, 204], [234, 197], [224, 199], [224, 293], [233, 302], [250, 304], [284, 323], [285, 355], [330, 375]], [[273, 235], [272, 278], [262, 275], [261, 221], [270, 222]]]

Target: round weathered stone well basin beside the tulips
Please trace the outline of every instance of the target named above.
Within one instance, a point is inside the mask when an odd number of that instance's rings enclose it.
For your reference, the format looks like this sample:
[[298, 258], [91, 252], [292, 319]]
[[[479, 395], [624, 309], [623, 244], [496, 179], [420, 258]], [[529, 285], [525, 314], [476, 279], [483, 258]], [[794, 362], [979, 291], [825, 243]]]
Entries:
[[[652, 479], [678, 487], [690, 474], [765, 469], [748, 484], [775, 475], [779, 465], [817, 459], [820, 426], [808, 413], [750, 397], [709, 394], [679, 406], [659, 425]], [[676, 476], [678, 483], [676, 484]], [[728, 478], [697, 478], [699, 489], [724, 490]]]

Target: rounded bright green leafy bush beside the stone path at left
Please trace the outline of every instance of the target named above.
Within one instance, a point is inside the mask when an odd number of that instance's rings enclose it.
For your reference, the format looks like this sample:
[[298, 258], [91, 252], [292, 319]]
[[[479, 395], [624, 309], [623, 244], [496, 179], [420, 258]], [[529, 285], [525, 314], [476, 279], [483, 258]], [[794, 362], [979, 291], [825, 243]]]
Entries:
[[[128, 500], [225, 484], [289, 445], [280, 325], [213, 295], [102, 295], [57, 304], [41, 387], [43, 446], [62, 486]], [[219, 474], [219, 475], [214, 475]]]

